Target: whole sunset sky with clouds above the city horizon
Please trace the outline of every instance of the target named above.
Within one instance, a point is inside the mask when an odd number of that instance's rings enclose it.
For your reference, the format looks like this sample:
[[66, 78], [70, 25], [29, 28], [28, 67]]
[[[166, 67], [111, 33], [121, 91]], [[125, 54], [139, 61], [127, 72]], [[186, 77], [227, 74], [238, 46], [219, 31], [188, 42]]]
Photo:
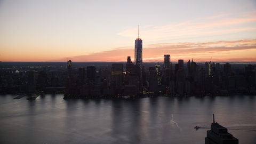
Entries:
[[0, 61], [256, 61], [256, 1], [1, 1]]

